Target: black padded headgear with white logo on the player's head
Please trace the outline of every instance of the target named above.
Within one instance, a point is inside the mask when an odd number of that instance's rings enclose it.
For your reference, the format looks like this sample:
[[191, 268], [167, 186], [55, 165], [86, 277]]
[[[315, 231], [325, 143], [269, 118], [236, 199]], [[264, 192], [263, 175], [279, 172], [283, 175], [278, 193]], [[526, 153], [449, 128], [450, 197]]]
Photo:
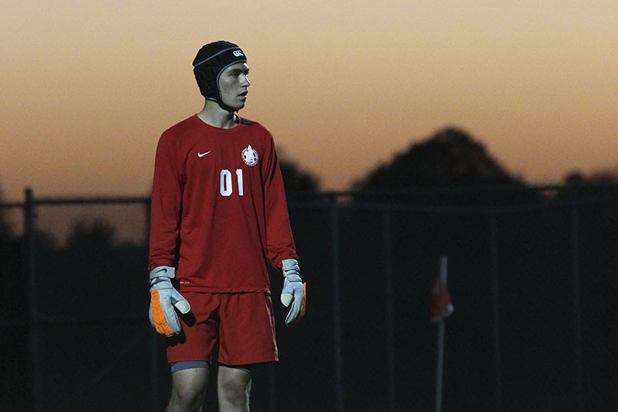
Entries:
[[193, 73], [200, 87], [200, 93], [217, 102], [225, 111], [235, 109], [223, 103], [219, 90], [219, 77], [221, 73], [236, 63], [247, 62], [242, 49], [229, 41], [216, 41], [203, 46], [193, 60]]

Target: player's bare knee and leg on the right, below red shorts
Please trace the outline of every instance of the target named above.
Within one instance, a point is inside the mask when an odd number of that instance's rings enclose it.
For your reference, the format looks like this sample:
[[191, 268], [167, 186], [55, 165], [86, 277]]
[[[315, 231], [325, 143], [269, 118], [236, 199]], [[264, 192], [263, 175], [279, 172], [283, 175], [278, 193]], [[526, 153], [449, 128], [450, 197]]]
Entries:
[[250, 371], [219, 365], [217, 384], [220, 412], [249, 412]]

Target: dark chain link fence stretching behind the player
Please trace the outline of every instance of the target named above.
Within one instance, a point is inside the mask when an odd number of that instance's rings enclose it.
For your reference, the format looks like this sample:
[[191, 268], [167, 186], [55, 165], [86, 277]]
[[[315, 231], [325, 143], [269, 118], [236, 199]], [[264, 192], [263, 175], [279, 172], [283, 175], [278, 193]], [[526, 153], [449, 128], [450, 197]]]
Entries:
[[[2, 410], [163, 411], [148, 198], [36, 198], [1, 249]], [[618, 187], [290, 196], [308, 313], [255, 372], [255, 411], [431, 411], [441, 255], [444, 411], [613, 411]], [[21, 225], [20, 225], [21, 224]], [[207, 402], [216, 400], [209, 390]]]

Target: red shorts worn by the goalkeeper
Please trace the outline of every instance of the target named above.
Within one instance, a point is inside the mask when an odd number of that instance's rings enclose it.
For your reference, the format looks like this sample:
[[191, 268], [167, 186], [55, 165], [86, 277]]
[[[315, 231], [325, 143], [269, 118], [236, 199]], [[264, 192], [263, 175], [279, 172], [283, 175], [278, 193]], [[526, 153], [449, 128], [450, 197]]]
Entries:
[[168, 362], [214, 361], [250, 365], [279, 360], [273, 303], [268, 293], [183, 292], [191, 311], [183, 331], [168, 339]]

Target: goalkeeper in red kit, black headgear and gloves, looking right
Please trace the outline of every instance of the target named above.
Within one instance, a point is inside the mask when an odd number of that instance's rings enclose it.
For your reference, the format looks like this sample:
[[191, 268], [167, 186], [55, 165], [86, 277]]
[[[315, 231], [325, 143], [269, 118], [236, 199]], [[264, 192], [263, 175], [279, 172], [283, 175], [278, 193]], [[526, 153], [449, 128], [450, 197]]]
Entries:
[[201, 410], [214, 352], [219, 410], [249, 411], [252, 367], [278, 361], [267, 264], [284, 275], [286, 325], [304, 315], [305, 285], [273, 137], [236, 115], [251, 84], [244, 52], [209, 43], [193, 67], [204, 108], [157, 146], [150, 322], [168, 336], [168, 412]]

